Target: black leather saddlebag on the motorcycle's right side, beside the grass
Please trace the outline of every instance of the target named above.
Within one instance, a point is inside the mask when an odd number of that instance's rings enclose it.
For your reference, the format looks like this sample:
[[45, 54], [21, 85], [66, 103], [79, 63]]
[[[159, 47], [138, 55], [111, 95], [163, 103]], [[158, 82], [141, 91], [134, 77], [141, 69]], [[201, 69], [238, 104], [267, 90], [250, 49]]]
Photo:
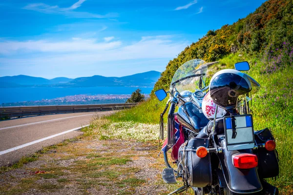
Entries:
[[[257, 144], [264, 144], [267, 140], [274, 140], [272, 132], [265, 128], [254, 132], [254, 138]], [[267, 151], [266, 148], [258, 148], [256, 151], [258, 157], [258, 176], [260, 178], [270, 178], [279, 175], [279, 162], [276, 149]]]

